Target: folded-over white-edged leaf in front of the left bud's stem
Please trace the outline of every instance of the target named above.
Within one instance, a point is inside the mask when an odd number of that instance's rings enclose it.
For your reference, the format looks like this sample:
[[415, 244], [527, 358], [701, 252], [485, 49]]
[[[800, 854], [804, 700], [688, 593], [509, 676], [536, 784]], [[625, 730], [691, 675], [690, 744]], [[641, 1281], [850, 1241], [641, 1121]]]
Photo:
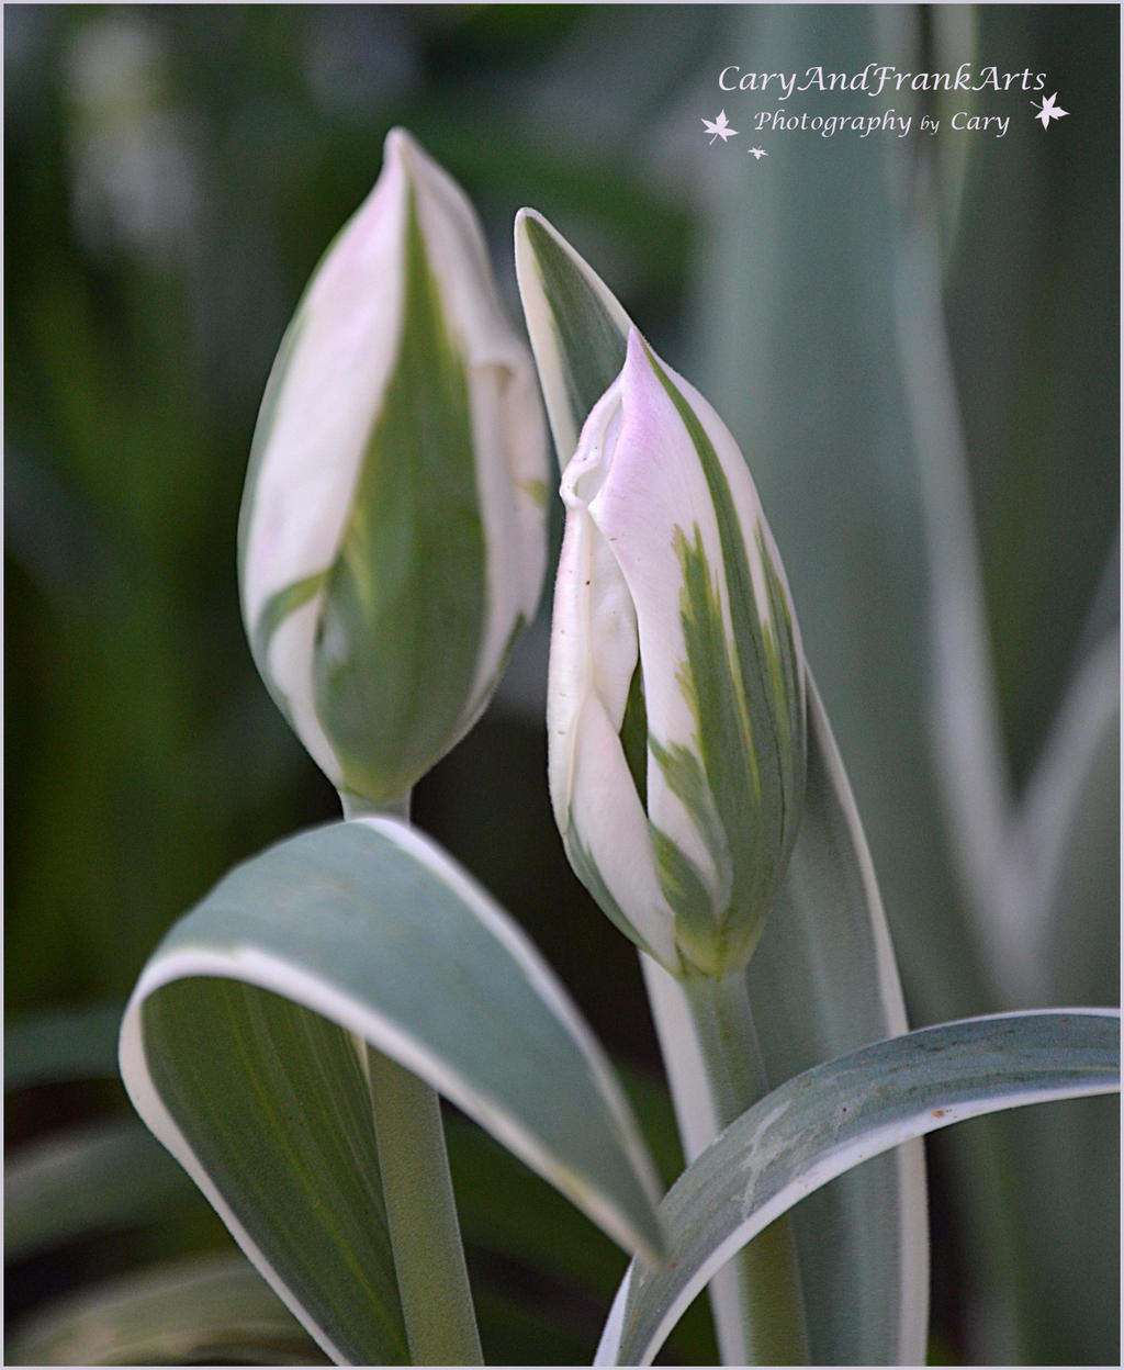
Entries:
[[623, 1095], [511, 919], [404, 823], [303, 833], [173, 929], [120, 1058], [141, 1117], [335, 1359], [405, 1358], [355, 1038], [628, 1249], [659, 1249], [659, 1191]]

